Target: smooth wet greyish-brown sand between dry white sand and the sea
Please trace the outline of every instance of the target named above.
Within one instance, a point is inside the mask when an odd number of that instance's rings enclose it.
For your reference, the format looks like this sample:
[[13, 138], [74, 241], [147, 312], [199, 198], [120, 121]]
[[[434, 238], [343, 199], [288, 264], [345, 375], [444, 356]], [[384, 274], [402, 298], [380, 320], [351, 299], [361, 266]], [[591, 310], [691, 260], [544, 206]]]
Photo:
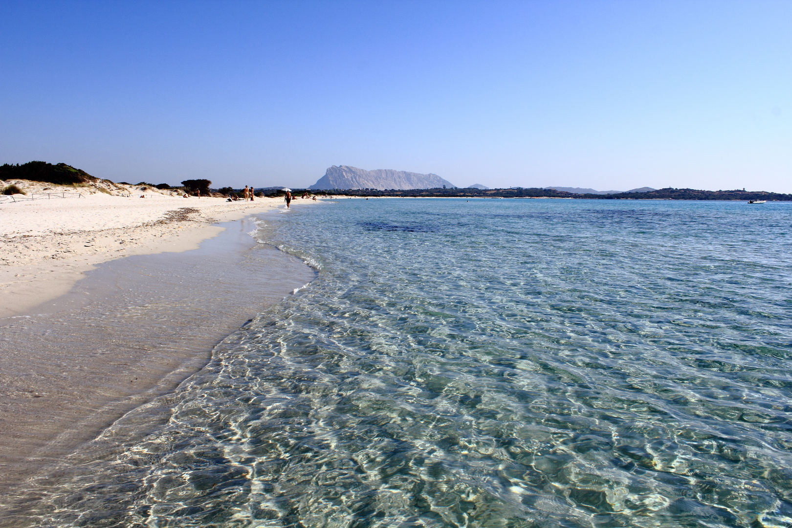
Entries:
[[253, 241], [251, 219], [223, 226], [200, 249], [98, 264], [68, 294], [0, 319], [0, 495], [13, 498], [41, 468], [173, 389], [219, 340], [314, 278]]

